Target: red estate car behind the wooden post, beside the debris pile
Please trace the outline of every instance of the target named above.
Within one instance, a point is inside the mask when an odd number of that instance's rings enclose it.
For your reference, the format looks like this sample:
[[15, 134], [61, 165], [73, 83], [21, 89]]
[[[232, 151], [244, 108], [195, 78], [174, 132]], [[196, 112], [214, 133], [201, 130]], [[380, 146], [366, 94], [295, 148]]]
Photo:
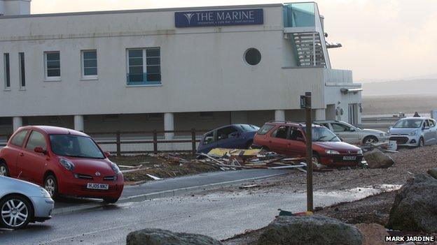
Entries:
[[[254, 138], [254, 144], [287, 156], [306, 155], [305, 124], [289, 121], [271, 121]], [[323, 165], [340, 167], [356, 166], [363, 159], [363, 151], [341, 140], [328, 128], [312, 125], [313, 161]]]

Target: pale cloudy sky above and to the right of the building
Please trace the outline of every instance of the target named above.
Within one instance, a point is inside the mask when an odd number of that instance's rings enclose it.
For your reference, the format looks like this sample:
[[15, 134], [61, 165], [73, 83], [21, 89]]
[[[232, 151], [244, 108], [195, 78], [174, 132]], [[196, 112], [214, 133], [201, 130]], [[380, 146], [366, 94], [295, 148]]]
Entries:
[[[293, 1], [295, 2], [295, 1]], [[32, 0], [31, 12], [175, 8], [280, 3], [277, 0]], [[319, 0], [332, 68], [357, 82], [437, 78], [436, 0]]]

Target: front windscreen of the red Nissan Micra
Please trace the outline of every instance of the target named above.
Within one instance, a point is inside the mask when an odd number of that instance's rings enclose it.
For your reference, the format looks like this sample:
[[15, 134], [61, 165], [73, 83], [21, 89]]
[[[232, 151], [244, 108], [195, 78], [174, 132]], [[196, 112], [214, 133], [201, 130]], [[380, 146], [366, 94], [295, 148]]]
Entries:
[[53, 153], [59, 156], [79, 158], [105, 158], [91, 138], [78, 135], [50, 135]]

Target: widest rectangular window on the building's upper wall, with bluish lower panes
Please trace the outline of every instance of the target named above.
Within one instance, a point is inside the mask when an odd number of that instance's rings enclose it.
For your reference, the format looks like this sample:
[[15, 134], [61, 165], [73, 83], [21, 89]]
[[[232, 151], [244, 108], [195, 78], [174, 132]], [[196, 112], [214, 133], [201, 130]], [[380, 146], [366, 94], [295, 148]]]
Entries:
[[127, 85], [161, 84], [160, 48], [127, 50]]

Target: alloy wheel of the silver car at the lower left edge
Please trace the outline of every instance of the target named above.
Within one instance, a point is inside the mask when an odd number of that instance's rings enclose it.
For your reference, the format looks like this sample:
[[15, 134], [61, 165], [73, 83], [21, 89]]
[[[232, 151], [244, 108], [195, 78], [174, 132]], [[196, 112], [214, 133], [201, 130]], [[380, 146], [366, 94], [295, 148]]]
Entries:
[[0, 223], [5, 228], [20, 229], [25, 227], [33, 216], [32, 205], [21, 195], [10, 195], [0, 202]]

